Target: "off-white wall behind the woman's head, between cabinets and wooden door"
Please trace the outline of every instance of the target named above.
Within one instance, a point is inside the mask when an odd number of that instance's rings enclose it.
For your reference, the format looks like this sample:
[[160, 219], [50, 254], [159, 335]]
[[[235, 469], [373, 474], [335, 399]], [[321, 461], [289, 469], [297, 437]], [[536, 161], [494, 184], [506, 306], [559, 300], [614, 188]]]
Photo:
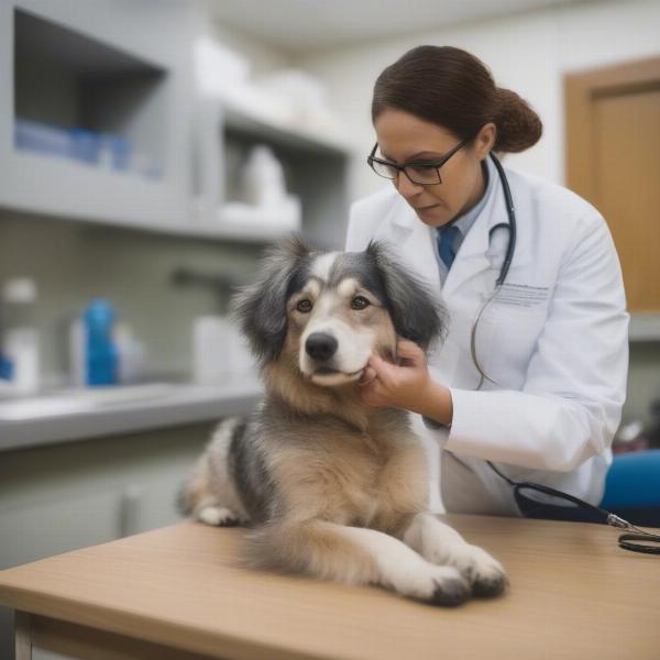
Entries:
[[373, 85], [385, 66], [419, 44], [470, 51], [491, 68], [498, 86], [527, 99], [541, 117], [543, 136], [532, 148], [507, 156], [507, 164], [563, 183], [563, 75], [659, 55], [660, 0], [568, 4], [298, 59], [298, 66], [326, 82], [329, 100], [345, 124], [348, 142], [355, 145], [351, 199], [389, 185], [377, 179], [365, 163], [374, 142], [370, 118]]

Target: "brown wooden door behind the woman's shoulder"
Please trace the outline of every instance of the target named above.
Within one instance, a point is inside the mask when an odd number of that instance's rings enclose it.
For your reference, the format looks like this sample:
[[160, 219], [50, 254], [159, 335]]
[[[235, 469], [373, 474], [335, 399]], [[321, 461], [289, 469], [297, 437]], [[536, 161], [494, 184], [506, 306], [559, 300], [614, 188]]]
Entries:
[[607, 221], [628, 308], [660, 311], [660, 58], [566, 76], [566, 185]]

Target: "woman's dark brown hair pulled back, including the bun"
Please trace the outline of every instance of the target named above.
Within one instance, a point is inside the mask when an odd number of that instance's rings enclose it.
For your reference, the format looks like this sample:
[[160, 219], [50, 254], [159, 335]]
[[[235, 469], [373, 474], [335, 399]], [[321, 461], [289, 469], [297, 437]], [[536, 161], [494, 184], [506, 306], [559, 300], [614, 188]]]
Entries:
[[496, 87], [481, 59], [452, 46], [417, 46], [385, 68], [374, 86], [372, 122], [387, 108], [441, 125], [460, 140], [493, 122], [496, 152], [524, 151], [543, 130], [527, 101]]

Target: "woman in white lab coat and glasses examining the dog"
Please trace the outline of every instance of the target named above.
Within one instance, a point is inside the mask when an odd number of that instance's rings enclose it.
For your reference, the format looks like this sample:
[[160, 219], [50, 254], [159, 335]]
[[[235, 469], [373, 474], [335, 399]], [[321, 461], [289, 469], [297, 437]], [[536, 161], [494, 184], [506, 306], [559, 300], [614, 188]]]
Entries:
[[517, 498], [507, 480], [602, 499], [625, 400], [629, 318], [605, 220], [566, 188], [505, 169], [515, 251], [473, 351], [473, 322], [509, 240], [506, 228], [494, 229], [507, 224], [507, 207], [490, 153], [531, 146], [541, 122], [476, 57], [436, 46], [414, 48], [381, 74], [372, 120], [370, 164], [394, 186], [352, 205], [345, 249], [387, 241], [441, 289], [450, 323], [428, 361], [406, 341], [406, 365], [372, 358], [364, 400], [421, 415], [440, 447], [448, 512], [588, 519], [547, 495]]

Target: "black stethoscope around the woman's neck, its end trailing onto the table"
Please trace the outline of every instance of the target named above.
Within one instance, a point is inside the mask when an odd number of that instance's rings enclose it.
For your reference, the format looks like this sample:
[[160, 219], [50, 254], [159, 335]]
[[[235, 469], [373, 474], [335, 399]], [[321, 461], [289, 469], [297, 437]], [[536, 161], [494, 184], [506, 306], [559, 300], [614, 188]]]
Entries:
[[[514, 258], [514, 251], [516, 249], [516, 211], [514, 209], [514, 198], [512, 196], [512, 190], [509, 188], [508, 180], [507, 180], [506, 174], [504, 172], [504, 167], [502, 167], [502, 163], [493, 153], [491, 153], [491, 158], [493, 160], [493, 163], [495, 164], [495, 167], [497, 168], [497, 174], [499, 175], [499, 180], [502, 182], [502, 189], [504, 191], [504, 199], [505, 199], [505, 204], [506, 204], [506, 213], [508, 217], [508, 222], [501, 222], [501, 223], [496, 224], [495, 227], [493, 227], [490, 231], [488, 238], [492, 239], [493, 233], [495, 231], [497, 231], [498, 229], [506, 229], [508, 231], [508, 245], [507, 245], [506, 253], [504, 256], [504, 262], [502, 263], [502, 267], [499, 270], [499, 276], [495, 280], [495, 286], [493, 288], [493, 293], [482, 302], [481, 307], [479, 308], [479, 310], [474, 317], [474, 321], [472, 323], [472, 331], [471, 331], [471, 337], [470, 337], [470, 351], [472, 353], [472, 361], [474, 362], [474, 366], [476, 367], [476, 370], [480, 373], [480, 383], [479, 383], [476, 389], [481, 389], [482, 385], [484, 384], [484, 380], [488, 380], [492, 383], [497, 384], [495, 380], [493, 380], [491, 376], [488, 376], [488, 374], [484, 371], [484, 369], [482, 367], [482, 365], [479, 362], [479, 359], [476, 355], [476, 331], [479, 328], [479, 321], [482, 317], [482, 314], [484, 312], [484, 309], [486, 309], [486, 307], [492, 302], [492, 300], [497, 296], [497, 294], [502, 289], [504, 280], [506, 279], [509, 267], [512, 265], [512, 261]], [[645, 531], [644, 529], [639, 529], [638, 527], [636, 527], [631, 522], [628, 522], [627, 520], [624, 520], [619, 516], [612, 514], [601, 507], [594, 506], [593, 504], [590, 504], [588, 502], [584, 502], [584, 501], [580, 499], [579, 497], [569, 495], [568, 493], [563, 493], [561, 491], [556, 491], [554, 488], [550, 488], [549, 486], [543, 486], [541, 484], [535, 484], [535, 483], [530, 483], [530, 482], [515, 482], [515, 481], [510, 480], [508, 476], [504, 475], [502, 472], [499, 472], [499, 470], [497, 470], [495, 468], [495, 465], [493, 465], [493, 463], [491, 463], [491, 461], [486, 461], [486, 463], [493, 469], [493, 471], [496, 474], [498, 474], [502, 479], [504, 479], [506, 482], [508, 482], [514, 487], [514, 496], [516, 498], [516, 502], [518, 503], [518, 506], [520, 507], [520, 510], [524, 510], [522, 506], [520, 506], [521, 504], [529, 503], [529, 498], [526, 498], [520, 493], [520, 491], [522, 491], [525, 488], [530, 490], [530, 491], [537, 491], [539, 493], [544, 493], [546, 495], [553, 495], [556, 497], [560, 497], [562, 499], [572, 502], [573, 504], [576, 504], [578, 506], [582, 507], [583, 509], [590, 512], [590, 516], [588, 516], [590, 520], [588, 521], [603, 522], [605, 525], [610, 525], [612, 527], [618, 527], [620, 529], [628, 529], [628, 530], [635, 531], [636, 534], [623, 534], [619, 536], [618, 544], [622, 548], [624, 548], [626, 550], [632, 550], [634, 552], [645, 552], [648, 554], [660, 554], [660, 546], [656, 547], [656, 546], [631, 542], [631, 541], [650, 541], [651, 543], [660, 543], [660, 535], [650, 534], [648, 531]]]

